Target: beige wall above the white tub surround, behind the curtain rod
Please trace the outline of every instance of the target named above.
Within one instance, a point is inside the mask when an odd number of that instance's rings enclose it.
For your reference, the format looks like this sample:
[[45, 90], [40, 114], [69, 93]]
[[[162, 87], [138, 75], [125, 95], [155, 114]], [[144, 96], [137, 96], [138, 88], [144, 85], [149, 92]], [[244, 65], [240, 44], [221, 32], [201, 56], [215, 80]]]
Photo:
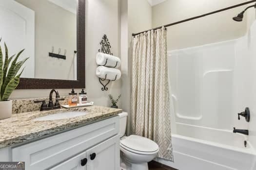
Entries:
[[[152, 26], [166, 25], [245, 1], [247, 0], [165, 0], [152, 8]], [[246, 19], [238, 23], [232, 17], [246, 6], [248, 5], [168, 27], [168, 50], [241, 37], [246, 32]]]

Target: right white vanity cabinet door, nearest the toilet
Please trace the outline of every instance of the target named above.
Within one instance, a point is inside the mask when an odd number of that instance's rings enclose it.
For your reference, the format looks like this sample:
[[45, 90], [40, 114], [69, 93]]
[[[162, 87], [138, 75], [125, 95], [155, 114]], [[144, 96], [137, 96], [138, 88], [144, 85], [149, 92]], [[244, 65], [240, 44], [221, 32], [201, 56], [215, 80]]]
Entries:
[[119, 135], [86, 151], [86, 170], [120, 170]]

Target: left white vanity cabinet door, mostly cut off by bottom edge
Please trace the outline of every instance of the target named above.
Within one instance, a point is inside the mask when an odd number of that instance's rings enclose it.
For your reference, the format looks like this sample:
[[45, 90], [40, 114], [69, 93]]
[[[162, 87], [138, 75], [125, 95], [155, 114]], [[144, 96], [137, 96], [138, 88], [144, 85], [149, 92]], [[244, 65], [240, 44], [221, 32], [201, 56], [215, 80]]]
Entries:
[[[86, 162], [86, 152], [83, 152], [49, 170], [86, 170]], [[83, 166], [81, 163], [83, 163]]]

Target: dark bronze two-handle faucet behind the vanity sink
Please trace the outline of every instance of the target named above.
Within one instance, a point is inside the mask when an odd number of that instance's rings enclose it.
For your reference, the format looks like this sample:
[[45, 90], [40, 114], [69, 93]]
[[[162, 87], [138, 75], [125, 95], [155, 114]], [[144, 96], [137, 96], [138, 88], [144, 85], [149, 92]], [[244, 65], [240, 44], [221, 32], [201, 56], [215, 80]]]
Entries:
[[[53, 93], [55, 92], [56, 94], [56, 101], [55, 104], [53, 104]], [[61, 99], [59, 96], [58, 90], [52, 89], [49, 95], [49, 104], [47, 105], [45, 100], [43, 101], [35, 101], [35, 103], [42, 102], [42, 105], [40, 107], [40, 111], [44, 110], [53, 110], [53, 109], [60, 109], [60, 104], [59, 101], [63, 101], [64, 99]]]

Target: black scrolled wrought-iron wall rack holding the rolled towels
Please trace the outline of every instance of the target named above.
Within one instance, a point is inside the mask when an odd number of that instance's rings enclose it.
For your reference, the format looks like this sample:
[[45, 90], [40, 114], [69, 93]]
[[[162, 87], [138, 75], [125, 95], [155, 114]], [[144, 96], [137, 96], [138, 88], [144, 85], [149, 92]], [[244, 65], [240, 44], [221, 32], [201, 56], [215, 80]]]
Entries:
[[[101, 45], [101, 48], [98, 50], [98, 52], [103, 52], [103, 53], [106, 53], [106, 54], [113, 55], [113, 53], [112, 53], [111, 50], [110, 50], [111, 45], [110, 45], [110, 42], [108, 41], [108, 38], [107, 38], [107, 35], [106, 35], [106, 34], [103, 35], [102, 40], [100, 41], [99, 44]], [[106, 59], [106, 63], [105, 63], [103, 66], [106, 66], [107, 62], [108, 62], [108, 59]], [[118, 65], [118, 62], [117, 62], [117, 64], [116, 64], [115, 67], [117, 67], [117, 65]], [[115, 68], [115, 67], [114, 67], [114, 68]], [[110, 81], [116, 81], [116, 80], [117, 80], [117, 76], [118, 76], [118, 75], [116, 75], [116, 77], [115, 77], [114, 80], [107, 80], [107, 83], [106, 83], [106, 84], [104, 84], [104, 81], [107, 79], [107, 74], [105, 75], [105, 78], [104, 78], [104, 79], [98, 78], [99, 83], [103, 86], [103, 87], [101, 88], [101, 90], [102, 90], [102, 91], [104, 91], [104, 90], [107, 91], [107, 90], [108, 90], [107, 85], [110, 83]]]

